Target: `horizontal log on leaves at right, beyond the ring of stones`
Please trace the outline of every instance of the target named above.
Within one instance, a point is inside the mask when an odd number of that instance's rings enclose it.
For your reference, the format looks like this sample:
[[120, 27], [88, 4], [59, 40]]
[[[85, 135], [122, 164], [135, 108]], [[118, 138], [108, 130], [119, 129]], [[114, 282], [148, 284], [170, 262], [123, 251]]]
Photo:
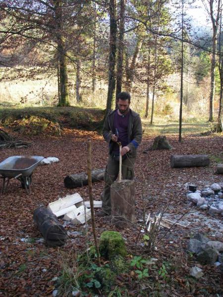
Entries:
[[170, 165], [177, 167], [202, 167], [210, 164], [210, 158], [206, 154], [171, 155]]

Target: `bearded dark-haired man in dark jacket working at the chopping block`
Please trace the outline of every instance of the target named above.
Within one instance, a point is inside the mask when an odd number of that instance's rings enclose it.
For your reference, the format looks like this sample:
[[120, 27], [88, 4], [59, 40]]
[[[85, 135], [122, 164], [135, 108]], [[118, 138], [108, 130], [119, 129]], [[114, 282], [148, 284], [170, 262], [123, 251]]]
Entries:
[[119, 172], [119, 144], [121, 143], [122, 178], [133, 179], [136, 151], [142, 141], [142, 122], [138, 113], [129, 108], [131, 96], [121, 92], [117, 96], [118, 108], [111, 111], [103, 126], [103, 137], [109, 143], [109, 158], [107, 161], [104, 181], [102, 210], [99, 216], [111, 214], [111, 184]]

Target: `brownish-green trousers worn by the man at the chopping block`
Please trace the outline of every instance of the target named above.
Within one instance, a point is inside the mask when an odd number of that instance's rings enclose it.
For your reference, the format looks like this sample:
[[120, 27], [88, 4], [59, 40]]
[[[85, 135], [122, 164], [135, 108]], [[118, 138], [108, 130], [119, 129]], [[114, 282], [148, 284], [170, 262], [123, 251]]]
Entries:
[[[131, 153], [122, 161], [121, 173], [122, 179], [132, 180], [134, 177], [134, 163], [135, 157]], [[111, 214], [111, 184], [117, 179], [119, 172], [119, 162], [114, 160], [112, 155], [109, 156], [104, 175], [105, 188], [103, 192], [102, 211]]]

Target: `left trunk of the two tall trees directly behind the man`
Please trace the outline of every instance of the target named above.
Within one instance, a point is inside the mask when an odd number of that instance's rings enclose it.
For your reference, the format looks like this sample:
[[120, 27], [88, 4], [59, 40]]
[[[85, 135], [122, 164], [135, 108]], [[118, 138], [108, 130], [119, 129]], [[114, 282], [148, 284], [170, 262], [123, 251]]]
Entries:
[[116, 0], [110, 0], [110, 54], [109, 54], [109, 86], [108, 97], [106, 104], [106, 114], [110, 112], [114, 90], [115, 90], [115, 57], [116, 57], [116, 34], [117, 34], [117, 20], [116, 20]]

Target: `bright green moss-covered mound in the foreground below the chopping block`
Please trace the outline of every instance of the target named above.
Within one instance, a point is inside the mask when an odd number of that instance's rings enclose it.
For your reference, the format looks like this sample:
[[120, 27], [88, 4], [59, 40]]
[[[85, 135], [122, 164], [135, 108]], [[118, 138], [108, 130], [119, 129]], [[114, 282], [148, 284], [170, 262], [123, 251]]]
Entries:
[[102, 233], [99, 251], [101, 256], [106, 259], [111, 259], [116, 255], [125, 257], [127, 254], [123, 238], [115, 231], [105, 231]]

